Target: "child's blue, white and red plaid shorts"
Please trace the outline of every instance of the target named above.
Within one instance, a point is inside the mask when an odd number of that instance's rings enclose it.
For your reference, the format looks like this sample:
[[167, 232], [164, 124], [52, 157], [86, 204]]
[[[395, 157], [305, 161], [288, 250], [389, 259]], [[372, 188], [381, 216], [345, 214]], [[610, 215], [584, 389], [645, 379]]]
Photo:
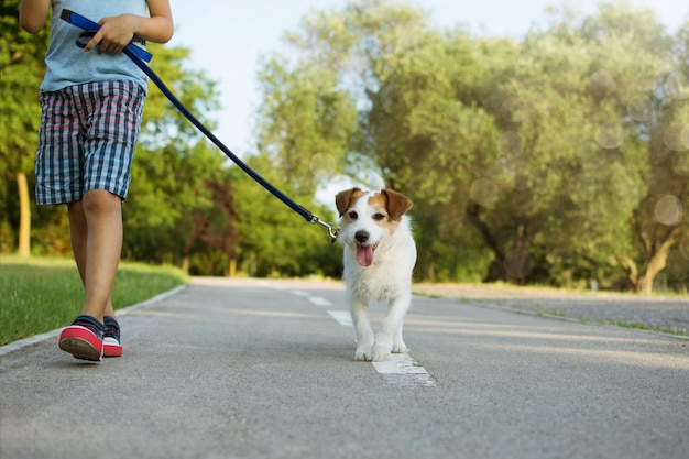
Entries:
[[131, 182], [144, 90], [98, 81], [41, 92], [36, 204], [81, 200], [105, 189], [124, 200]]

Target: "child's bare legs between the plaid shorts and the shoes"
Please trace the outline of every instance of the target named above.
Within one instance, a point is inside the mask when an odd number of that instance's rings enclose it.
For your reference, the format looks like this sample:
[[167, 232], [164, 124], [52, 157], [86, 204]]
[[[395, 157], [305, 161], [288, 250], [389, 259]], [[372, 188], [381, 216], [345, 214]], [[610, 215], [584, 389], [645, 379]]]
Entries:
[[121, 198], [102, 189], [68, 205], [72, 247], [86, 291], [83, 315], [114, 317], [110, 293], [122, 251]]

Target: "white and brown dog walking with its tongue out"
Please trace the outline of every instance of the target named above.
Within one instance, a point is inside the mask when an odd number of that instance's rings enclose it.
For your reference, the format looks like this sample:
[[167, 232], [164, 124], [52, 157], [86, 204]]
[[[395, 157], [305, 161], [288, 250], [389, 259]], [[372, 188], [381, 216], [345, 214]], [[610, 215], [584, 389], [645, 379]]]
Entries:
[[[338, 240], [343, 244], [346, 300], [357, 336], [356, 360], [380, 362], [391, 352], [404, 353], [404, 316], [412, 304], [412, 272], [416, 245], [407, 210], [412, 200], [385, 189], [381, 177], [371, 190], [351, 188], [335, 197], [340, 215]], [[374, 336], [369, 307], [387, 303], [387, 315]]]

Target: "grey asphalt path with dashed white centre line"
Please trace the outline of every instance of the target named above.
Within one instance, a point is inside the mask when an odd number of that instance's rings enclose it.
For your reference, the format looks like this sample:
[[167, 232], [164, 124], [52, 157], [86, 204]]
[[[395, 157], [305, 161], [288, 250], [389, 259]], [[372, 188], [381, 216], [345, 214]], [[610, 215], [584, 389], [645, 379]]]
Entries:
[[[378, 309], [374, 324], [382, 317]], [[0, 348], [0, 458], [689, 457], [689, 340], [415, 297], [353, 360], [339, 283], [194, 278], [98, 364]]]

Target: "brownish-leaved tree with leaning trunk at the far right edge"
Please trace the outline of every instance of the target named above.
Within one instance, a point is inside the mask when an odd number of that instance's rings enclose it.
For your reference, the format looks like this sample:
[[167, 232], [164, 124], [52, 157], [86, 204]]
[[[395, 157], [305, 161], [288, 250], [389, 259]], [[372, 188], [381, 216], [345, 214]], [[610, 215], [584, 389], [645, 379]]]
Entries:
[[[676, 61], [658, 78], [655, 97], [648, 98], [649, 135], [646, 174], [647, 194], [635, 209], [633, 228], [645, 260], [624, 258], [637, 289], [650, 294], [656, 276], [669, 267], [664, 280], [682, 281], [689, 271], [689, 252], [681, 243], [689, 233], [689, 87], [683, 75], [689, 69], [689, 23], [678, 33]], [[668, 260], [672, 261], [668, 266]], [[645, 263], [644, 263], [645, 261]], [[646, 265], [639, 273], [637, 265]]]

